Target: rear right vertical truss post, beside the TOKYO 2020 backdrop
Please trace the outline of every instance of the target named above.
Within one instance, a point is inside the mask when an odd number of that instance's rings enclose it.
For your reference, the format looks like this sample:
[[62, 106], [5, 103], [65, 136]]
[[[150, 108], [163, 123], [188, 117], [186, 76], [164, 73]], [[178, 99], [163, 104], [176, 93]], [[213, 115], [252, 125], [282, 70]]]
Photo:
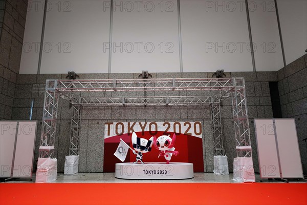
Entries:
[[225, 156], [222, 120], [221, 120], [221, 106], [219, 103], [215, 103], [211, 104], [210, 108], [211, 108], [211, 122], [213, 130], [214, 156]]

